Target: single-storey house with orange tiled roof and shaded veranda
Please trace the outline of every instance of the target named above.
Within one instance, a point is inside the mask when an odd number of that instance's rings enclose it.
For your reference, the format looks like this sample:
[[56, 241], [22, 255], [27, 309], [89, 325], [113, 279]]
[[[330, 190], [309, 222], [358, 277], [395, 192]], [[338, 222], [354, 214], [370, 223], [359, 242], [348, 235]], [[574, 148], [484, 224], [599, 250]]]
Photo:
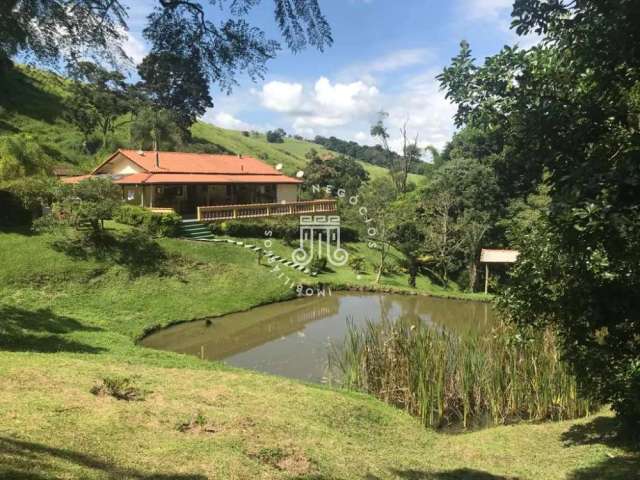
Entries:
[[92, 176], [110, 176], [122, 187], [127, 203], [183, 215], [199, 213], [199, 207], [305, 203], [298, 202], [302, 180], [240, 155], [121, 149], [89, 175], [63, 181], [77, 183]]

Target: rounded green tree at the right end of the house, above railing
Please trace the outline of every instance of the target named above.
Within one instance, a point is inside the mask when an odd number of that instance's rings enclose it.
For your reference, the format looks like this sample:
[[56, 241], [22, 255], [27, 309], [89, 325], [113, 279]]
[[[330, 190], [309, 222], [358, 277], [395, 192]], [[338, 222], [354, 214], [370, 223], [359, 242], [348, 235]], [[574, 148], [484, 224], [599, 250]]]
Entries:
[[344, 155], [321, 158], [315, 149], [307, 152], [309, 164], [305, 168], [303, 188], [311, 191], [314, 185], [331, 186], [334, 191], [344, 190], [348, 195], [355, 195], [360, 186], [369, 180], [367, 171]]

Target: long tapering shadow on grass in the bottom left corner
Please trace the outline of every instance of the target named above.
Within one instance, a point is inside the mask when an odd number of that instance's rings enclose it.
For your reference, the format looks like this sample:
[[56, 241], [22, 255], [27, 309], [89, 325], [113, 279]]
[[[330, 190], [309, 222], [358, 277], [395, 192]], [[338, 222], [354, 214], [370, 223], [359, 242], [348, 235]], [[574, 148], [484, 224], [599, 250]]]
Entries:
[[[0, 437], [0, 478], [16, 480], [70, 478], [78, 474], [78, 467], [98, 474], [100, 478], [134, 480], [204, 480], [198, 474], [146, 473], [125, 468], [98, 457], [41, 443]], [[84, 477], [81, 477], [84, 478]]]

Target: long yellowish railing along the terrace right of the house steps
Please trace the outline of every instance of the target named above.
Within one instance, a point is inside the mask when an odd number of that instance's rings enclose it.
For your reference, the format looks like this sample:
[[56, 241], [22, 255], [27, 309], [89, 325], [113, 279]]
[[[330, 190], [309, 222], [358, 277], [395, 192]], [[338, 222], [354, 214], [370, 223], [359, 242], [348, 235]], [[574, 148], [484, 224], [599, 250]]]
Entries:
[[335, 212], [335, 200], [310, 200], [291, 203], [258, 203], [252, 205], [216, 205], [198, 207], [198, 221], [215, 222], [236, 218], [280, 217], [284, 215], [303, 215], [305, 213]]

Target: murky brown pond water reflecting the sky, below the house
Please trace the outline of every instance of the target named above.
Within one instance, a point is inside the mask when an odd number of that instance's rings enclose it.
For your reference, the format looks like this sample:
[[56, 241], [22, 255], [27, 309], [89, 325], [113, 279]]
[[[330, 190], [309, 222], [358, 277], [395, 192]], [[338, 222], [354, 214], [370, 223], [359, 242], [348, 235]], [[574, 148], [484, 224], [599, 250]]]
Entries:
[[491, 305], [416, 295], [333, 292], [182, 323], [149, 335], [142, 345], [222, 360], [230, 365], [321, 382], [330, 344], [342, 343], [347, 321], [402, 319], [459, 334], [494, 322]]

